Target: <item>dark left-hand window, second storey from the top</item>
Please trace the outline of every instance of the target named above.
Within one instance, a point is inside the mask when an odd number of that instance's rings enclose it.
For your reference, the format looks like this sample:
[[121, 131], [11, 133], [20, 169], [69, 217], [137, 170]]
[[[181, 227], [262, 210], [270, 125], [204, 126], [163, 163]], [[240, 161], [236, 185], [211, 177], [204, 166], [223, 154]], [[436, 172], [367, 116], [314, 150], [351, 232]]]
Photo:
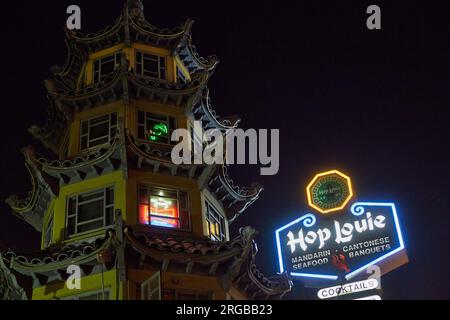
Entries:
[[117, 132], [117, 113], [113, 112], [81, 122], [80, 149], [86, 150], [110, 143]]

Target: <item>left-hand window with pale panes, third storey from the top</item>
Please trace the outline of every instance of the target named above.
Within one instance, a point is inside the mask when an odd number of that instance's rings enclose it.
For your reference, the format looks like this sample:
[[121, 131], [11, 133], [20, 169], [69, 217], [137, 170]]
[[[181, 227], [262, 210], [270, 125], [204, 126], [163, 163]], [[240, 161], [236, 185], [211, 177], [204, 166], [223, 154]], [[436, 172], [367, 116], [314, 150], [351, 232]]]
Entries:
[[111, 226], [114, 222], [113, 215], [113, 188], [70, 197], [67, 203], [67, 236]]

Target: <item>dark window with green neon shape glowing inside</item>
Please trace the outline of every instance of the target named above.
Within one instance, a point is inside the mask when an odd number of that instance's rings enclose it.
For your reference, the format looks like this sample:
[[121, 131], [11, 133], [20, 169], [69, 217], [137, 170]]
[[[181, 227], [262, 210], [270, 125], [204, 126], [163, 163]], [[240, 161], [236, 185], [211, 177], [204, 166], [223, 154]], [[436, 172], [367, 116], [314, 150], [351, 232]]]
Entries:
[[174, 117], [138, 111], [138, 138], [141, 140], [171, 144], [170, 138], [175, 129]]

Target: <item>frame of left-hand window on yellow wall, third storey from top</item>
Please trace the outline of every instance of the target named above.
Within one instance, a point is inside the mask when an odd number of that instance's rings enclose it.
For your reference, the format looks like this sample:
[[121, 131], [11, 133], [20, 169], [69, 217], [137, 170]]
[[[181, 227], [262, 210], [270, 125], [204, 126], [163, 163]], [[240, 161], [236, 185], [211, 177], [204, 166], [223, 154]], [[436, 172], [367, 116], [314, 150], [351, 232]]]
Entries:
[[[110, 201], [110, 203], [107, 203], [107, 199], [108, 199], [108, 192], [112, 192], [112, 199]], [[95, 194], [99, 194], [102, 193], [101, 197], [97, 197], [97, 198], [93, 198], [90, 199], [88, 201], [82, 201], [80, 202], [80, 197], [87, 197], [89, 195], [95, 195]], [[70, 204], [71, 201], [75, 201], [75, 212], [70, 212], [71, 208], [70, 208]], [[86, 204], [90, 204], [96, 201], [103, 201], [103, 214], [102, 215], [98, 215], [97, 218], [95, 219], [90, 219], [90, 220], [86, 220], [83, 222], [78, 222], [79, 220], [79, 207], [82, 205], [86, 205]], [[82, 193], [78, 193], [75, 195], [71, 195], [67, 197], [67, 201], [66, 201], [66, 238], [74, 238], [74, 237], [78, 237], [84, 234], [90, 234], [90, 233], [95, 233], [97, 231], [100, 230], [104, 230], [108, 227], [112, 227], [114, 225], [114, 210], [115, 210], [115, 201], [116, 201], [116, 194], [115, 194], [115, 188], [114, 186], [107, 186], [104, 188], [99, 188], [93, 191], [88, 191], [88, 192], [82, 192]], [[108, 217], [108, 210], [110, 210], [109, 212], [109, 217]], [[70, 232], [70, 228], [69, 228], [69, 220], [70, 219], [74, 219], [74, 232]], [[110, 220], [108, 223], [108, 219]], [[97, 228], [93, 228], [93, 229], [89, 229], [86, 231], [82, 231], [79, 232], [78, 228], [80, 226], [84, 226], [84, 225], [89, 225], [98, 221], [103, 221], [103, 225], [101, 227], [97, 227]]]

